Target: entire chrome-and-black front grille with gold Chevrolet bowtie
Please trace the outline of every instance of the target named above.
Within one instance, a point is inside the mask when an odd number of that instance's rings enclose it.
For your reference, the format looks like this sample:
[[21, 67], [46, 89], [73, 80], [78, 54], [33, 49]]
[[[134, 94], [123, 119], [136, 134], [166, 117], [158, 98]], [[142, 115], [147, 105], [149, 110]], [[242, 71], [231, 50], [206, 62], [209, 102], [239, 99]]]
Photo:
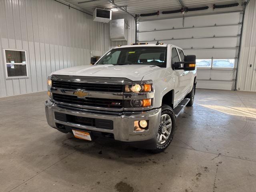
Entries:
[[52, 75], [53, 102], [63, 106], [102, 111], [124, 110], [126, 78]]

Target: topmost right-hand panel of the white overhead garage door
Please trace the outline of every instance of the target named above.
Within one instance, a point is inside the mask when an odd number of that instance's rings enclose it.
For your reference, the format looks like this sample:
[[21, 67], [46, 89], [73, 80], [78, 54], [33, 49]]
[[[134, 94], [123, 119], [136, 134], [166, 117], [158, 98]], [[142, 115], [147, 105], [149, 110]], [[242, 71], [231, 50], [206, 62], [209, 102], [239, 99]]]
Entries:
[[238, 24], [240, 12], [228, 14], [205, 15], [185, 18], [184, 27]]

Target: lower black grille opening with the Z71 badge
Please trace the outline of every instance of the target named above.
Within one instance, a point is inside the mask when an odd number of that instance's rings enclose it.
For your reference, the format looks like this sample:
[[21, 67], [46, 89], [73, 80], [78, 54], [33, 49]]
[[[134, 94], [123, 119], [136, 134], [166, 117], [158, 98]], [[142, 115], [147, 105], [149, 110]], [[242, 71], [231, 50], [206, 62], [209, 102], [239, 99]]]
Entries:
[[123, 100], [107, 98], [78, 98], [77, 96], [53, 93], [53, 100], [56, 102], [75, 104], [80, 106], [92, 106], [101, 108], [121, 109], [124, 107]]

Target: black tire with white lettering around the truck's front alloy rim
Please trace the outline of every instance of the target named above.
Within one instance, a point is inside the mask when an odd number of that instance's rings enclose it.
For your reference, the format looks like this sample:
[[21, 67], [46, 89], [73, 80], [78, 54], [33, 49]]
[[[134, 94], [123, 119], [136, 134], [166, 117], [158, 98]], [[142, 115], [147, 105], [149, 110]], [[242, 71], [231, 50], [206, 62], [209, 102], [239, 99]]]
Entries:
[[[156, 149], [152, 150], [153, 153], [163, 152], [172, 142], [172, 139], [174, 136], [174, 131], [175, 131], [176, 117], [175, 117], [175, 114], [174, 114], [172, 108], [166, 104], [162, 104], [161, 108], [162, 108], [161, 119], [162, 119], [162, 116], [164, 116], [165, 114], [166, 114], [166, 116], [168, 115], [170, 117], [170, 119], [168, 119], [168, 120], [171, 120], [171, 126], [170, 126], [171, 130], [170, 130], [170, 135], [168, 136], [168, 139], [166, 139], [166, 141], [164, 143], [162, 143], [162, 144], [159, 144], [159, 142], [156, 143]], [[164, 124], [164, 125], [166, 125], [166, 127], [168, 126], [167, 124]], [[158, 134], [162, 133], [162, 129], [163, 129], [162, 122], [160, 122]], [[167, 130], [167, 128], [165, 128], [165, 129]], [[157, 137], [158, 137], [158, 135], [157, 135]]]

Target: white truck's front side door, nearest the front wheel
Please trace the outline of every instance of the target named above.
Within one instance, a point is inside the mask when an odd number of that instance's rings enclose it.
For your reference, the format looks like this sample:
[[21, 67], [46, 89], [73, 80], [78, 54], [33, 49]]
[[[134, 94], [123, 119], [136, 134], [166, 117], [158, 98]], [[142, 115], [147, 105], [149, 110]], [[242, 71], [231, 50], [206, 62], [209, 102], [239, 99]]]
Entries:
[[[178, 51], [175, 47], [172, 48], [172, 57], [171, 57], [171, 64], [174, 62], [180, 61], [180, 57]], [[184, 82], [184, 70], [174, 70], [174, 106], [182, 101], [182, 96], [184, 90], [186, 89], [186, 84]]]

